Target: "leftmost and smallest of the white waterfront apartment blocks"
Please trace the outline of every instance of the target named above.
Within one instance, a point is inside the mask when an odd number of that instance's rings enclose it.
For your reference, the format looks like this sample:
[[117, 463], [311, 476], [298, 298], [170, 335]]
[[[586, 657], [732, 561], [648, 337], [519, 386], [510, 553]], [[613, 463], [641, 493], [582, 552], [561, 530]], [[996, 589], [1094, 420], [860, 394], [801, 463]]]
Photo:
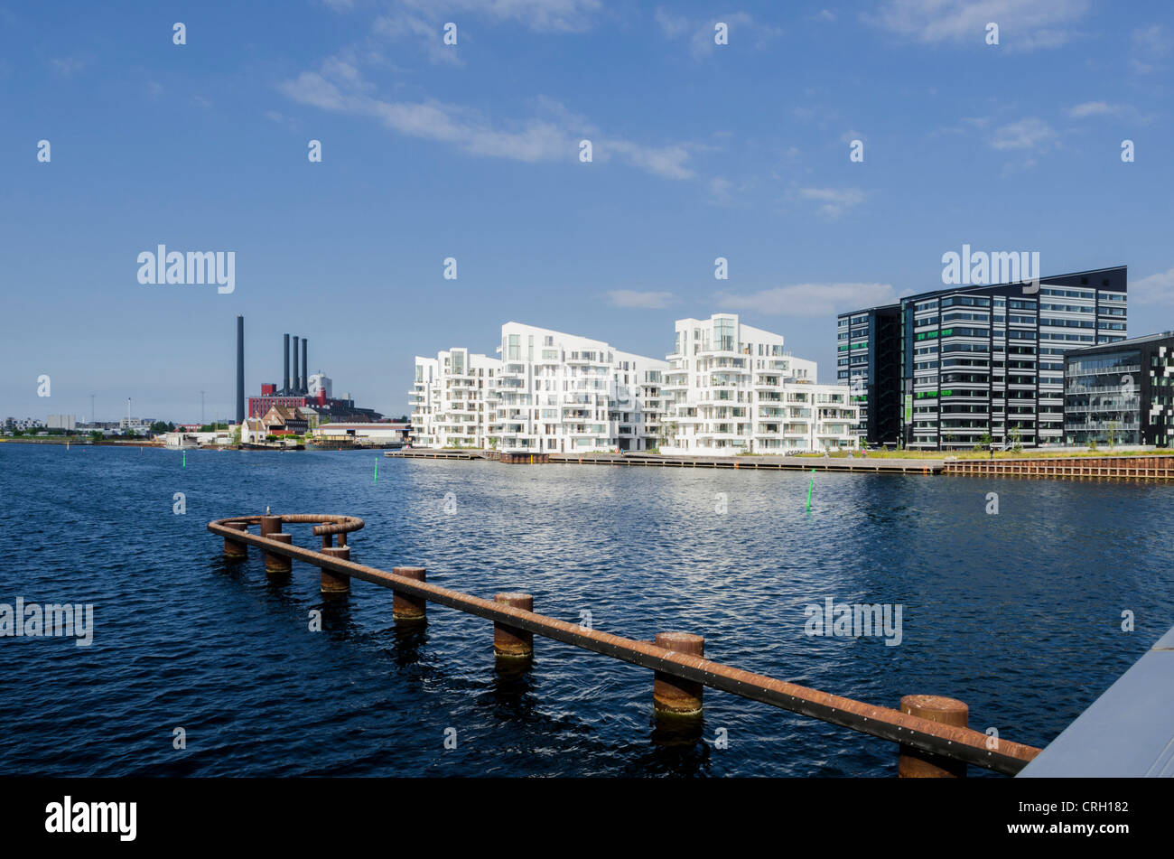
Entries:
[[495, 442], [497, 381], [501, 361], [454, 347], [416, 358], [412, 444], [417, 447], [487, 448]]

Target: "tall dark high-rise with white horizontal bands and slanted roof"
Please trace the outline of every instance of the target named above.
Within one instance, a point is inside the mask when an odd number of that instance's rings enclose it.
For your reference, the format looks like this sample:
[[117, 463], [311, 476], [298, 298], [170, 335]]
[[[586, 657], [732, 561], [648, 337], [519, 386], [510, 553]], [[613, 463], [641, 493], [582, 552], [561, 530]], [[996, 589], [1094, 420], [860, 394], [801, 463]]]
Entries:
[[837, 377], [862, 406], [857, 432], [922, 449], [1064, 444], [1064, 356], [1125, 339], [1126, 273], [947, 286], [842, 313]]

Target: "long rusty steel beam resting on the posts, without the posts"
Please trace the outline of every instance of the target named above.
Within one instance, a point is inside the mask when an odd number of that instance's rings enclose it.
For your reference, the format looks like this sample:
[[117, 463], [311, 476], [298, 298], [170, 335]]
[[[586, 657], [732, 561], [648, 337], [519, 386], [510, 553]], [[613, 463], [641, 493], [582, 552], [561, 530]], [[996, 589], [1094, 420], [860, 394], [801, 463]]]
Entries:
[[[358, 527], [362, 527], [363, 520], [348, 516], [282, 516], [283, 522], [323, 522], [343, 519], [356, 521], [359, 523]], [[252, 523], [259, 522], [259, 520], [261, 516], [221, 519], [209, 522], [208, 530], [220, 536], [230, 536], [236, 542], [258, 546], [265, 552], [286, 555], [321, 569], [349, 575], [352, 579], [362, 579], [365, 582], [391, 588], [439, 606], [447, 606], [494, 623], [533, 633], [565, 644], [574, 644], [585, 650], [603, 654], [641, 668], [649, 668], [663, 675], [700, 683], [710, 689], [771, 704], [821, 722], [850, 728], [861, 733], [899, 743], [911, 749], [942, 755], [996, 772], [1014, 775], [1041, 751], [1023, 743], [987, 737], [987, 735], [969, 728], [931, 722], [888, 706], [865, 704], [796, 683], [743, 671], [701, 656], [667, 650], [652, 642], [633, 641], [596, 629], [585, 629], [578, 623], [568, 623], [505, 603], [471, 596], [459, 590], [407, 579], [353, 561], [330, 557], [321, 552], [303, 549], [230, 527], [235, 522]]]

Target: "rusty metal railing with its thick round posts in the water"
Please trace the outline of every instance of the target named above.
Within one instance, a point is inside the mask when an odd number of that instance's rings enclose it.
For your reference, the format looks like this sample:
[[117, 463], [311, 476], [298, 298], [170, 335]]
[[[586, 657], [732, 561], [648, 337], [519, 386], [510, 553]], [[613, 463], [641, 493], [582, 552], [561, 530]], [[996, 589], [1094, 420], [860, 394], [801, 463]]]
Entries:
[[[313, 534], [322, 536], [322, 549], [294, 546], [291, 535], [282, 533], [282, 523], [316, 523]], [[259, 534], [249, 533], [250, 526], [258, 526]], [[271, 575], [289, 573], [291, 561], [297, 560], [321, 569], [324, 593], [349, 590], [351, 579], [391, 589], [397, 623], [423, 621], [427, 602], [493, 621], [494, 651], [502, 658], [529, 658], [533, 636], [540, 635], [652, 669], [657, 715], [700, 713], [701, 688], [709, 686], [898, 743], [899, 772], [909, 777], [959, 776], [967, 764], [1014, 775], [1040, 752], [966, 728], [967, 708], [953, 698], [908, 695], [900, 710], [876, 706], [707, 660], [701, 636], [663, 633], [654, 642], [635, 641], [537, 614], [528, 594], [485, 600], [429, 583], [420, 567], [396, 567], [387, 573], [356, 563], [350, 560], [346, 534], [362, 527], [362, 519], [326, 514], [236, 516], [208, 523], [209, 532], [224, 537], [228, 557], [245, 556], [248, 546], [263, 549]], [[335, 534], [337, 547], [331, 546]]]

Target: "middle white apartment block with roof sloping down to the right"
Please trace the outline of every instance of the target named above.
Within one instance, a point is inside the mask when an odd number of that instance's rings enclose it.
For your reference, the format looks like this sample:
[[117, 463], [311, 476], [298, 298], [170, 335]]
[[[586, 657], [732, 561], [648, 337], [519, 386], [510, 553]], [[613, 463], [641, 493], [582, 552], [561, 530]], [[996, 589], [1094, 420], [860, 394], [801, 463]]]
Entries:
[[602, 340], [510, 322], [501, 326], [504, 451], [647, 451], [660, 432], [668, 363]]

